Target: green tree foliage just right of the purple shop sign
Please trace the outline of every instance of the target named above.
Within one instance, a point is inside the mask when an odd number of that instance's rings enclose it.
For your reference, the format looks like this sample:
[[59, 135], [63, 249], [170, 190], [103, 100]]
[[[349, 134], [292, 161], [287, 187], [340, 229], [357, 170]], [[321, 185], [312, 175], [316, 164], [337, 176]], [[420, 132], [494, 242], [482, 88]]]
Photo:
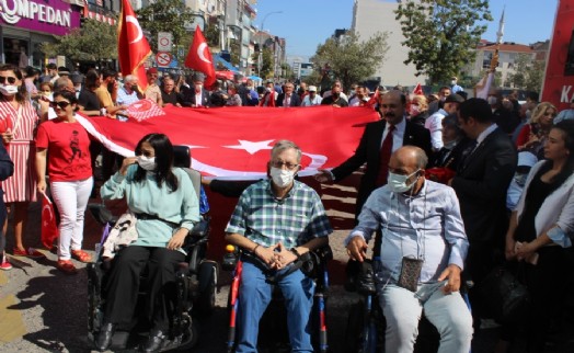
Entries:
[[76, 61], [102, 61], [117, 58], [117, 26], [85, 19], [81, 29], [56, 42], [44, 43], [42, 52], [48, 57], [64, 55]]

